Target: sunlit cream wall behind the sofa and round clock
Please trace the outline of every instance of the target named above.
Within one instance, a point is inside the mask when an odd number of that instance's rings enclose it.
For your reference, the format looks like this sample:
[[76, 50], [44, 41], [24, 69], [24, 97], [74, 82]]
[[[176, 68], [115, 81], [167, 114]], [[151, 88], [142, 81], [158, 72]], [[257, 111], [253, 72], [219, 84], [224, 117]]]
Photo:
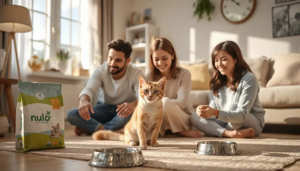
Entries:
[[[223, 18], [220, 0], [211, 0], [215, 4], [212, 20], [207, 21], [205, 16], [198, 23], [193, 18], [194, 1], [196, 0], [115, 0], [115, 14], [118, 17], [114, 18], [114, 23], [120, 26], [115, 27], [115, 37], [123, 36], [123, 23], [125, 18], [130, 17], [129, 9], [132, 9], [131, 12], [143, 13], [144, 9], [150, 7], [153, 24], [159, 26], [160, 36], [171, 40], [181, 60], [210, 60], [212, 49], [223, 40], [236, 41], [244, 57], [272, 57], [277, 53], [300, 51], [300, 36], [272, 38], [272, 7], [281, 5], [275, 4], [275, 0], [257, 0], [252, 17], [238, 25]], [[293, 2], [298, 1], [300, 0]], [[133, 7], [125, 9], [128, 5]]]

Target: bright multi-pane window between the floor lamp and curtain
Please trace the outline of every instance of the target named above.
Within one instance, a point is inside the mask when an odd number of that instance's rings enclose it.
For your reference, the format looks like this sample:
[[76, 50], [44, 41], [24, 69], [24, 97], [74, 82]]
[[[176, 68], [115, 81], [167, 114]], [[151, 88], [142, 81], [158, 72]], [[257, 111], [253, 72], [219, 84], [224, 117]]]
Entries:
[[81, 58], [82, 51], [88, 50], [88, 40], [81, 38], [86, 30], [82, 29], [82, 19], [87, 18], [87, 0], [13, 0], [13, 4], [30, 10], [33, 28], [29, 32], [30, 56], [55, 61], [55, 53], [64, 49], [84, 69], [89, 68], [89, 57]]

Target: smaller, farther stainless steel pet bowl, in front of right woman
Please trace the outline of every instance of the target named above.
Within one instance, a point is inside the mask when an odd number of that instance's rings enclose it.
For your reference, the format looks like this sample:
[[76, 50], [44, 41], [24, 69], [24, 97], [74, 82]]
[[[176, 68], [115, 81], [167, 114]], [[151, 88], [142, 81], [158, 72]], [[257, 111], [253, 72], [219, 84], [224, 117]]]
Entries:
[[232, 141], [200, 141], [197, 143], [196, 154], [200, 155], [238, 155], [238, 145]]

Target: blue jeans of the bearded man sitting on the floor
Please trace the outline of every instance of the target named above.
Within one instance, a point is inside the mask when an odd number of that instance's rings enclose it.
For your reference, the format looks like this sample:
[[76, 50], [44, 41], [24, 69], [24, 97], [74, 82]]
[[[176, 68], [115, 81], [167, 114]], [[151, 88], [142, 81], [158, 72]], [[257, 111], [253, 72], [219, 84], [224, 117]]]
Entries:
[[101, 125], [104, 125], [104, 129], [106, 130], [119, 130], [126, 125], [132, 116], [132, 114], [124, 118], [117, 116], [116, 105], [98, 103], [93, 107], [93, 110], [95, 113], [93, 114], [90, 111], [91, 119], [87, 121], [79, 115], [78, 108], [71, 109], [68, 112], [67, 120], [71, 125], [85, 130], [88, 134], [92, 134]]

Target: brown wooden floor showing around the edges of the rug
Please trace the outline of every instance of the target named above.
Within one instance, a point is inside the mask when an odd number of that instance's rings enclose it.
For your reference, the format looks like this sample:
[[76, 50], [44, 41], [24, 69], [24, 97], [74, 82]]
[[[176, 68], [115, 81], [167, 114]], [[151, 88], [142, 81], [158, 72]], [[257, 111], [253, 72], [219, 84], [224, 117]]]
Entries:
[[[292, 136], [293, 137], [293, 136]], [[0, 141], [14, 141], [12, 134], [5, 135], [0, 138]], [[55, 171], [163, 171], [161, 169], [152, 169], [146, 167], [134, 167], [126, 169], [104, 169], [98, 167], [91, 167], [87, 161], [73, 160], [66, 158], [56, 158], [42, 155], [33, 155], [18, 152], [7, 152], [0, 150], [0, 170], [1, 171], [41, 171], [41, 170], [55, 170]], [[283, 171], [299, 171], [300, 161], [283, 169]]]

